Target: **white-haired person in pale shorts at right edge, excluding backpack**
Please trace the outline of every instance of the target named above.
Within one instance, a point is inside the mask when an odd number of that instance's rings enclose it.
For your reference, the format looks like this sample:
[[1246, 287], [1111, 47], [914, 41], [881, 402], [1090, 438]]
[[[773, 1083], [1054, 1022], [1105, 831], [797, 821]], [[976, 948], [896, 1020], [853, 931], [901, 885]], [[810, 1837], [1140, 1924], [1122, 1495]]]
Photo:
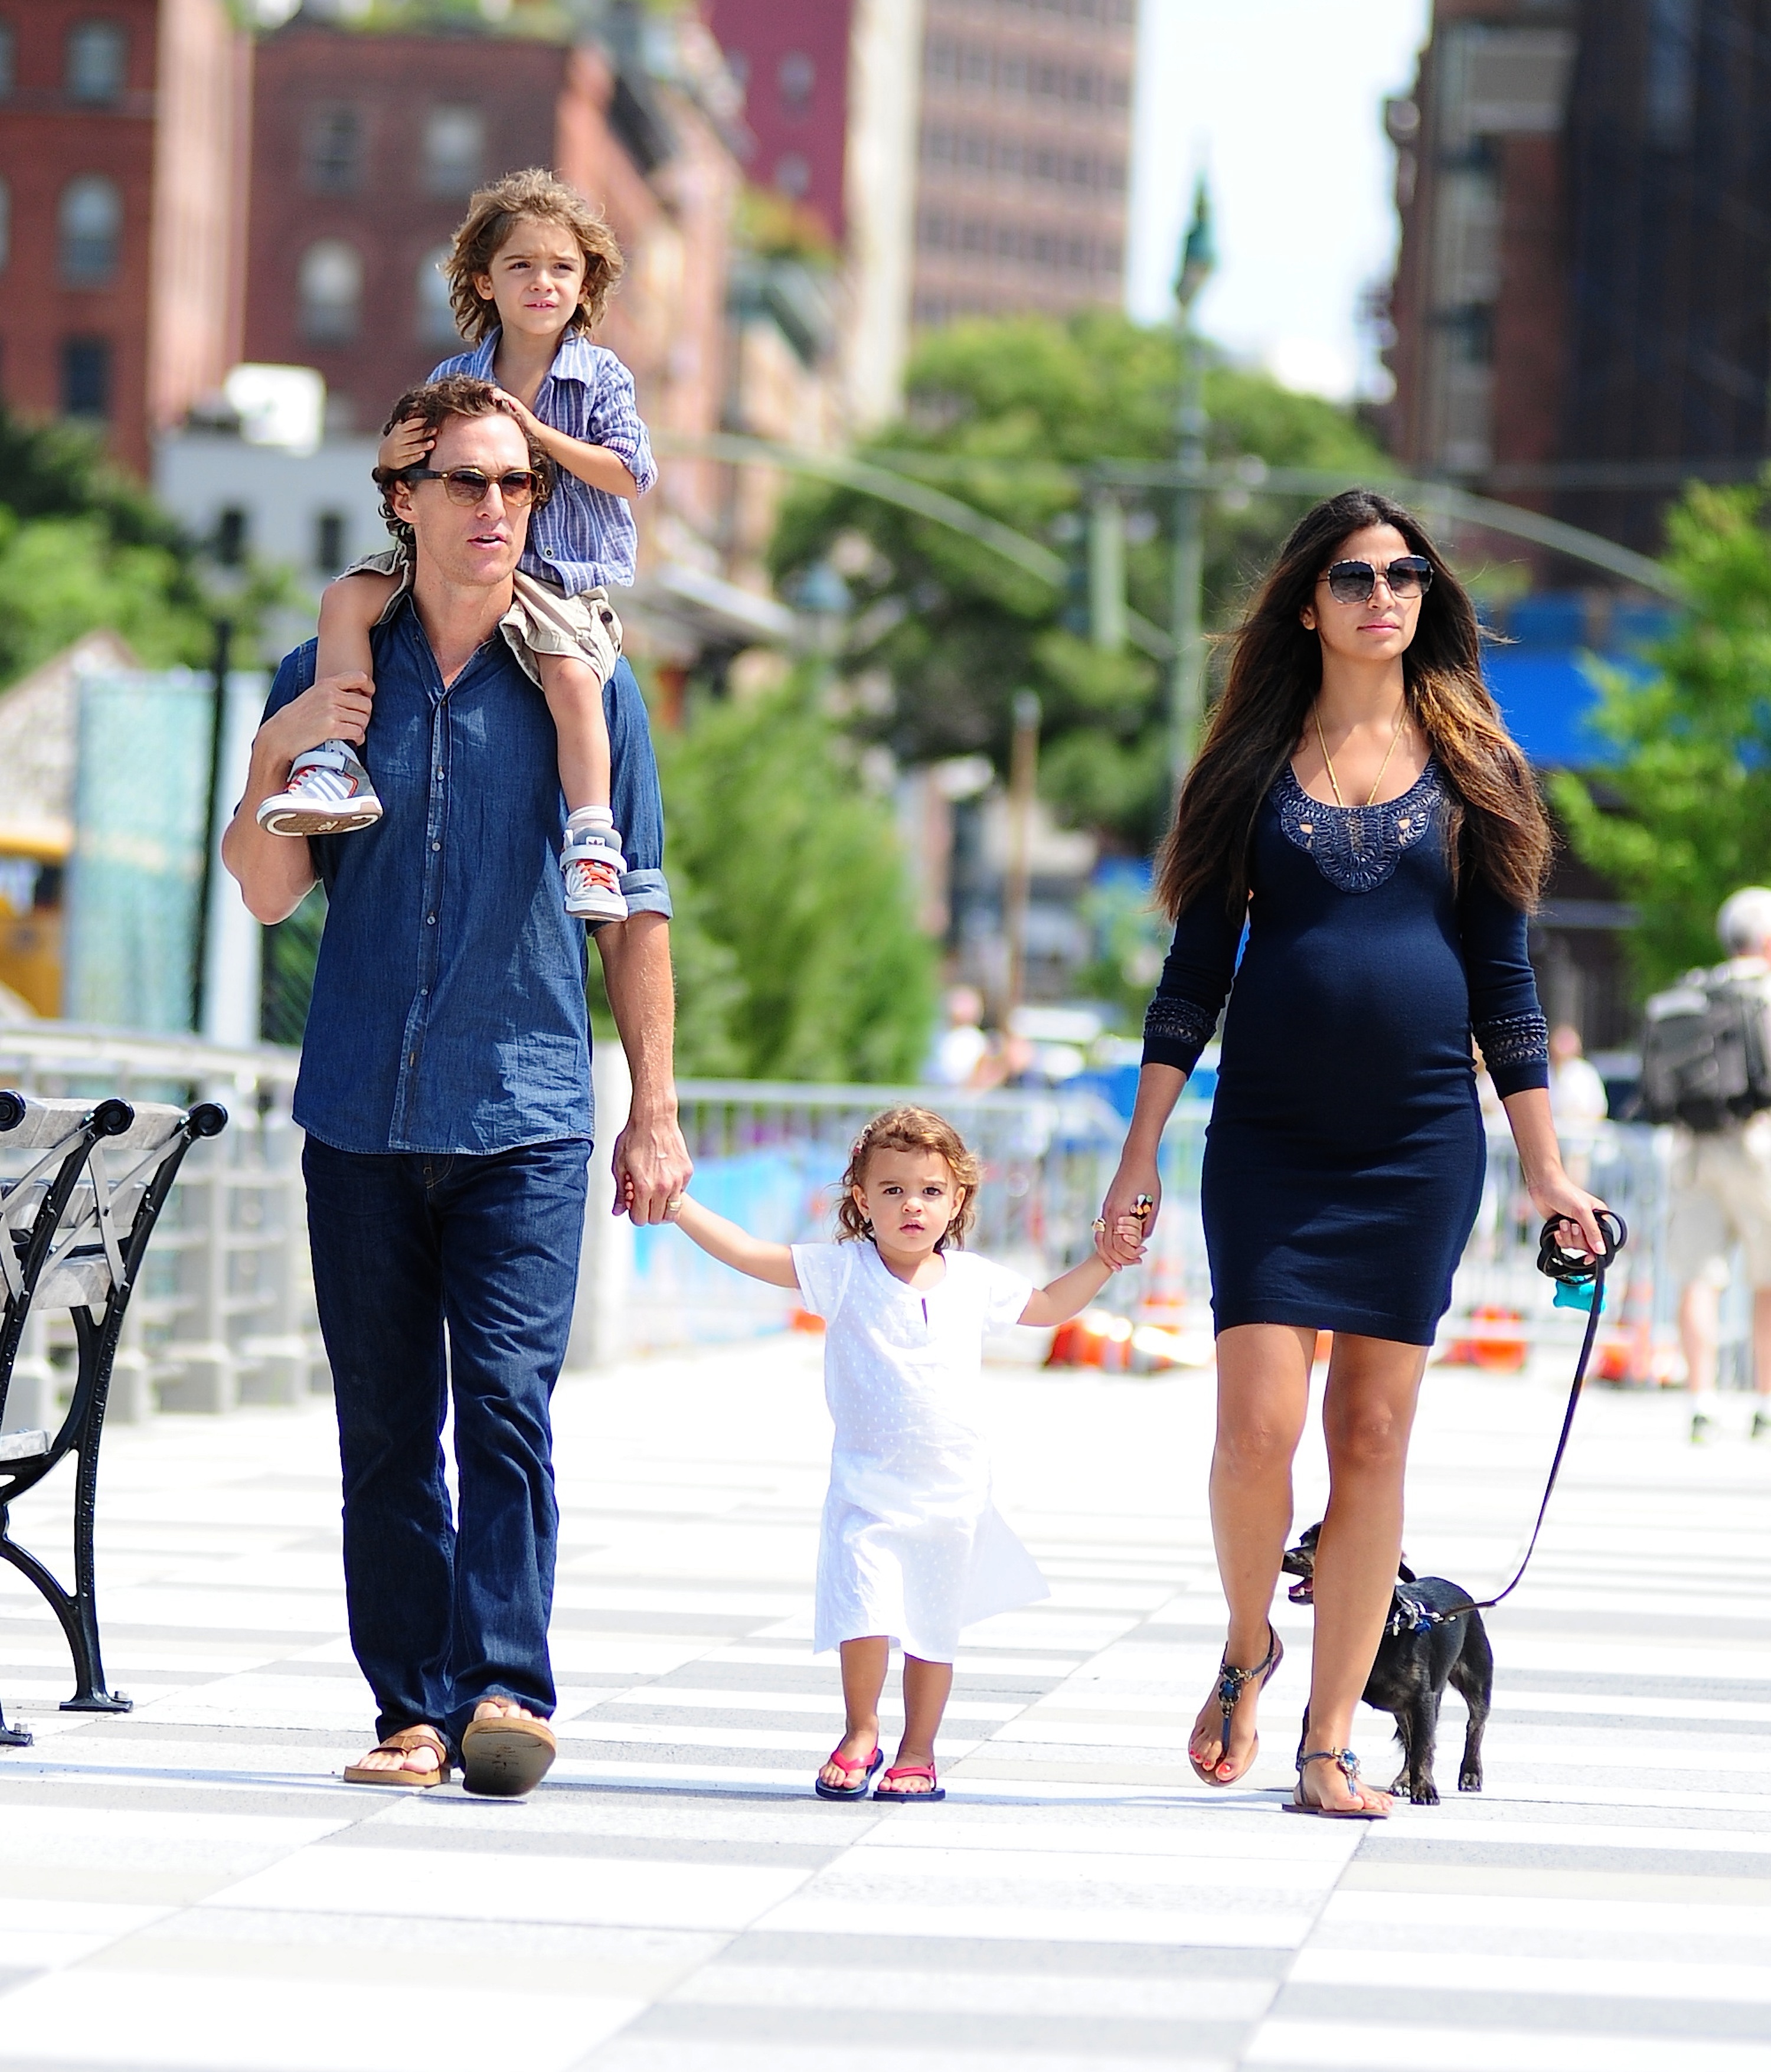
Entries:
[[[1771, 1015], [1771, 889], [1746, 885], [1721, 901], [1715, 932], [1728, 963], [1705, 974]], [[1771, 1019], [1765, 1021], [1771, 1044]], [[1690, 1438], [1715, 1436], [1715, 1351], [1721, 1291], [1738, 1249], [1752, 1289], [1750, 1436], [1771, 1432], [1771, 1115], [1723, 1117], [1713, 1129], [1676, 1125], [1667, 1272], [1678, 1283], [1678, 1336], [1690, 1382]]]

